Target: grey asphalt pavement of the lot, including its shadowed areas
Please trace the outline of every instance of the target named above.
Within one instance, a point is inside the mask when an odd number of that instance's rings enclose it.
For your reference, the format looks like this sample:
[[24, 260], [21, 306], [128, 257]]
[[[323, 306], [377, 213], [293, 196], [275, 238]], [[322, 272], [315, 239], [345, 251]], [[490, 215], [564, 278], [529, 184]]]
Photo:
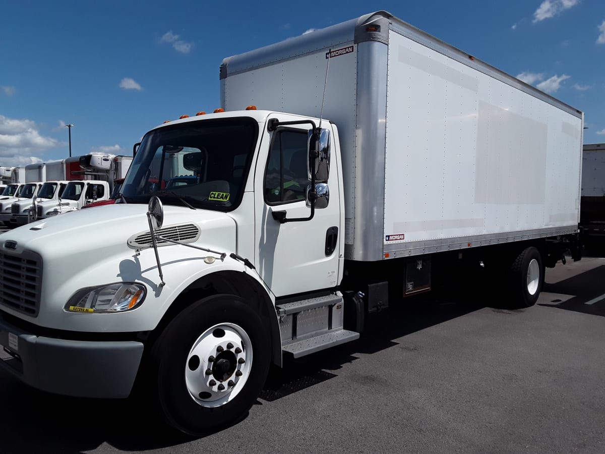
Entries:
[[129, 400], [0, 373], [0, 452], [604, 453], [605, 259], [549, 269], [529, 309], [460, 287], [391, 304], [358, 341], [273, 369], [250, 412], [204, 438]]

